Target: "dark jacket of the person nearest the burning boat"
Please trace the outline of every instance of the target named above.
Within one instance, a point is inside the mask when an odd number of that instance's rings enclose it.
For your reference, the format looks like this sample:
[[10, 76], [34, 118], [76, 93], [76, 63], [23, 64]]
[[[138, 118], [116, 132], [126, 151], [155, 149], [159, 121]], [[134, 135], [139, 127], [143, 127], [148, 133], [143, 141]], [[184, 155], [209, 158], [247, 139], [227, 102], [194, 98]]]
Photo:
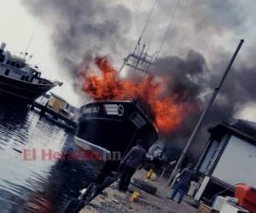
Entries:
[[126, 166], [137, 169], [141, 164], [143, 164], [144, 158], [146, 155], [146, 150], [137, 145], [136, 147], [132, 147], [130, 152], [126, 154], [125, 158], [122, 160]]

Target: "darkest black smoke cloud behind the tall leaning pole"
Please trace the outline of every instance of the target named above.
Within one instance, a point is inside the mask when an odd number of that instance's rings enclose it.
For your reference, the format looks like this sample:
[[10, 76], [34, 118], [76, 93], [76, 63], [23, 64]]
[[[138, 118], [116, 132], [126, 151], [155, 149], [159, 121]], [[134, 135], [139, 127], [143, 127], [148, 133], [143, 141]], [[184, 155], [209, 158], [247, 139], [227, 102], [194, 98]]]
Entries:
[[[175, 135], [166, 138], [171, 147], [182, 148], [189, 140], [189, 136], [200, 118], [201, 112], [206, 107], [213, 89], [218, 86], [231, 56], [230, 53], [230, 55], [225, 55], [224, 60], [218, 61], [218, 65], [214, 67], [219, 69], [215, 71], [209, 68], [204, 56], [195, 50], [189, 50], [188, 55], [184, 58], [168, 56], [157, 61], [157, 70], [160, 76], [170, 75], [172, 78], [172, 83], [168, 88], [169, 92], [178, 94], [183, 90], [189, 91], [185, 101], [199, 106], [197, 112], [191, 113], [188, 118], [185, 118], [182, 128]], [[256, 101], [256, 90], [253, 89], [255, 79], [256, 65], [247, 66], [247, 63], [237, 64], [235, 62], [190, 148], [190, 154], [194, 158], [198, 158], [198, 153], [201, 153], [207, 144], [209, 128], [236, 115], [236, 112], [245, 107], [248, 102]]]

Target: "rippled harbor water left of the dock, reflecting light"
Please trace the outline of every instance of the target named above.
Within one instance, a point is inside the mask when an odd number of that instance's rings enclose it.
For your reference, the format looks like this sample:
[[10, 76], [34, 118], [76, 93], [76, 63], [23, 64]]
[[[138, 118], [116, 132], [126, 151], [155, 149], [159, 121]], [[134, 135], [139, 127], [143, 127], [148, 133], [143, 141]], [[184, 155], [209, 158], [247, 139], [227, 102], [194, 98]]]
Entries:
[[62, 158], [73, 133], [37, 112], [0, 106], [0, 212], [61, 212], [94, 173]]

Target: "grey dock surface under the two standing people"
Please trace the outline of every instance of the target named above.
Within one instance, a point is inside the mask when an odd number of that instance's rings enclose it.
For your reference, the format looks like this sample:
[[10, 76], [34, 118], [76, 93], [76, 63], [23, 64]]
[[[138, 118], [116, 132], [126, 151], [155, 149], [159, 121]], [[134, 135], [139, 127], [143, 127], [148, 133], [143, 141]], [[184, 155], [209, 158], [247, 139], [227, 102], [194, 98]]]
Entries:
[[[137, 178], [145, 179], [146, 171], [138, 170], [135, 174]], [[184, 199], [182, 204], [177, 204], [170, 197], [171, 187], [167, 186], [167, 180], [150, 181], [150, 184], [155, 185], [158, 190], [156, 194], [146, 193], [143, 190], [130, 184], [129, 192], [120, 193], [117, 189], [117, 183], [113, 183], [106, 188], [102, 194], [84, 207], [80, 213], [144, 213], [144, 212], [160, 212], [160, 213], [196, 213], [197, 208], [189, 204], [189, 197]], [[131, 201], [131, 194], [138, 192], [139, 199]]]

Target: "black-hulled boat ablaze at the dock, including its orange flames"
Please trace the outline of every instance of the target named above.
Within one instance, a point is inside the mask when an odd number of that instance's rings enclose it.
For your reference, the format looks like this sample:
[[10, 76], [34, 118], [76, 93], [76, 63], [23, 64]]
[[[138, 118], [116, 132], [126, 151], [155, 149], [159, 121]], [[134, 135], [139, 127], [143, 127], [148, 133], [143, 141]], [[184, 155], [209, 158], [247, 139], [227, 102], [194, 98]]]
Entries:
[[[176, 95], [161, 95], [163, 83], [154, 80], [154, 58], [145, 49], [145, 45], [140, 49], [138, 43], [134, 53], [124, 60], [124, 66], [148, 75], [141, 81], [121, 79], [120, 71], [106, 57], [96, 57], [91, 60], [91, 67], [85, 64], [81, 68], [82, 90], [94, 102], [80, 109], [75, 135], [80, 148], [96, 151], [103, 157], [112, 157], [113, 152], [124, 156], [137, 139], [143, 139], [149, 148], [157, 141], [158, 130], [174, 132], [182, 123], [187, 107], [177, 101]], [[101, 75], [95, 74], [95, 68]]]

